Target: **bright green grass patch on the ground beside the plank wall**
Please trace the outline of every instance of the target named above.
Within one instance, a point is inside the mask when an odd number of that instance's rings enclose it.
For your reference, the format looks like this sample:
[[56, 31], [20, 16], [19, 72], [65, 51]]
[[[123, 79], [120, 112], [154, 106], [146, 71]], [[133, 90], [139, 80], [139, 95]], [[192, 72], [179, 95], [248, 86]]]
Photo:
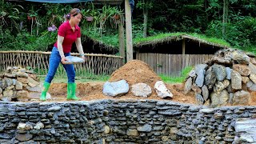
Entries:
[[162, 78], [162, 81], [166, 83], [182, 83], [185, 81], [186, 76], [190, 73], [190, 70], [192, 69], [193, 69], [192, 66], [185, 67], [182, 70], [181, 77], [169, 77], [164, 74], [160, 74], [159, 76], [160, 78]]

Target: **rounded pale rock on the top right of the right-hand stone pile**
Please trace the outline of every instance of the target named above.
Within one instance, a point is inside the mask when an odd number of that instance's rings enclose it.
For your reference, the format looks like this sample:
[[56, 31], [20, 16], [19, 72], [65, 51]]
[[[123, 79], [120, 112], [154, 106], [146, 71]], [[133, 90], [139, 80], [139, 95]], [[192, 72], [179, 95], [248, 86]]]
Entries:
[[234, 50], [232, 52], [231, 58], [234, 60], [234, 62], [237, 62], [239, 64], [248, 65], [250, 62], [250, 58], [245, 53], [238, 50]]

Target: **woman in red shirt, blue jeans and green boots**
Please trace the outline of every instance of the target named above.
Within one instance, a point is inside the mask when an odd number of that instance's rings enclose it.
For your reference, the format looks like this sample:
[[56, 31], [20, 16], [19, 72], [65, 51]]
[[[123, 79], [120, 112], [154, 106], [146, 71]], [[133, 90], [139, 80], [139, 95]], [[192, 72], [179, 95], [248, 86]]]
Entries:
[[76, 84], [74, 83], [75, 71], [73, 64], [63, 64], [67, 61], [66, 56], [70, 56], [72, 44], [75, 42], [80, 56], [85, 60], [81, 44], [81, 31], [78, 27], [81, 21], [82, 14], [79, 9], [74, 8], [70, 14], [66, 15], [67, 21], [63, 22], [58, 28], [58, 39], [54, 44], [54, 48], [50, 54], [50, 66], [45, 82], [43, 83], [43, 90], [40, 97], [41, 101], [46, 101], [46, 92], [50, 87], [50, 82], [54, 78], [56, 70], [60, 62], [66, 70], [68, 77], [67, 83], [67, 100], [78, 100], [75, 95]]

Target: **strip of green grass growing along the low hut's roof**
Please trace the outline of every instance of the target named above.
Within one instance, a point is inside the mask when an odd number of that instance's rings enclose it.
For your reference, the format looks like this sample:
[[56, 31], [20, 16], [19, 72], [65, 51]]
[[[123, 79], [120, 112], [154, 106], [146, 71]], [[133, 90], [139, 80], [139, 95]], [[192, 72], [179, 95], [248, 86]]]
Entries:
[[203, 34], [188, 34], [188, 33], [165, 33], [165, 34], [154, 35], [154, 36], [147, 37], [147, 38], [134, 38], [134, 44], [139, 44], [141, 42], [154, 42], [154, 41], [158, 41], [158, 40], [160, 41], [160, 40], [162, 40], [164, 38], [168, 38], [168, 37], [182, 36], [182, 34], [190, 35], [191, 37], [194, 37], [194, 38], [200, 38], [207, 42], [212, 42], [212, 43], [219, 44], [222, 46], [230, 47], [230, 43], [228, 43], [222, 39], [210, 38]]

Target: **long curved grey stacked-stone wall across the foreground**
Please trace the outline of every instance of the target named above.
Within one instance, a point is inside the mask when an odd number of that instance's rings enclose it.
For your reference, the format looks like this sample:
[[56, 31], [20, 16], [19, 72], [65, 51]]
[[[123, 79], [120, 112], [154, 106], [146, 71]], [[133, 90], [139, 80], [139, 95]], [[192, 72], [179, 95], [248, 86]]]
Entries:
[[0, 102], [0, 143], [234, 142], [256, 106], [207, 108], [170, 101]]

